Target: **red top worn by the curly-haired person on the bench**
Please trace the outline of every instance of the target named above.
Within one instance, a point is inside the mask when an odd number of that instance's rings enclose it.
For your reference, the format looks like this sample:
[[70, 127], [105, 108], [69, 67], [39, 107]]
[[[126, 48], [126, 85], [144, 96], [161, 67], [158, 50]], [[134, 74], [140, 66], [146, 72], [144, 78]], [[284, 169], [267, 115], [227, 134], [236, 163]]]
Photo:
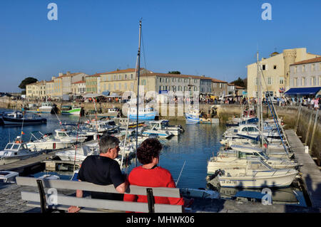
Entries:
[[[136, 167], [129, 174], [128, 181], [129, 184], [136, 186], [167, 188], [176, 187], [170, 171], [168, 171], [167, 169], [163, 169], [162, 167], [156, 167], [154, 169], [144, 169], [143, 167]], [[147, 203], [147, 196], [125, 194], [123, 196], [123, 201], [138, 201], [141, 203]], [[183, 198], [155, 196], [155, 204], [183, 205], [184, 201]]]

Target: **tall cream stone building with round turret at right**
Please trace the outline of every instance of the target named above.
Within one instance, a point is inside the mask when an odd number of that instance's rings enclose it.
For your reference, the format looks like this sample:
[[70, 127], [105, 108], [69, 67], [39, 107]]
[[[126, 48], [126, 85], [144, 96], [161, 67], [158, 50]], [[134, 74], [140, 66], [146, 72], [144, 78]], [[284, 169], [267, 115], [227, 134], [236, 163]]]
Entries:
[[[282, 53], [271, 53], [270, 58], [262, 58], [264, 79], [261, 75], [263, 95], [267, 91], [272, 96], [282, 96], [285, 90], [290, 88], [290, 65], [302, 60], [319, 57], [319, 55], [307, 53], [306, 48], [293, 48], [283, 50]], [[248, 97], [258, 96], [257, 63], [247, 65], [248, 68]]]

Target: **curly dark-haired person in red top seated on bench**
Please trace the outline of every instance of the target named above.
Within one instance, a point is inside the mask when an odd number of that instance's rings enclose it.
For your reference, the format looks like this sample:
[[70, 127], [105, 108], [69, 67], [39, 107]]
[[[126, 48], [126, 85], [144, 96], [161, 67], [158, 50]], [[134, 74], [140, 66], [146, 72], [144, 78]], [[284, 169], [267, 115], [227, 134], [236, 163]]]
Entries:
[[[170, 171], [159, 167], [159, 155], [162, 149], [158, 139], [145, 139], [137, 149], [138, 161], [142, 164], [134, 168], [128, 176], [129, 184], [148, 187], [175, 188], [175, 181]], [[123, 201], [147, 203], [147, 196], [125, 194]], [[155, 196], [155, 204], [184, 205], [183, 198]]]

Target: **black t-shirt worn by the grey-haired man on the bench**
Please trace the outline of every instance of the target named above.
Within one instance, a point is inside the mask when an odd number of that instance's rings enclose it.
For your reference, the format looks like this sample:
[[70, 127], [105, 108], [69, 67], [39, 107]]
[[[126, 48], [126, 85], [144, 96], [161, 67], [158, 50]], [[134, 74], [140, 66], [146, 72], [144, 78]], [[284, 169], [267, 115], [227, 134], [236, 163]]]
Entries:
[[[78, 179], [98, 185], [113, 184], [115, 188], [125, 182], [118, 162], [98, 155], [91, 155], [83, 160]], [[92, 191], [91, 198], [123, 200], [123, 194]]]

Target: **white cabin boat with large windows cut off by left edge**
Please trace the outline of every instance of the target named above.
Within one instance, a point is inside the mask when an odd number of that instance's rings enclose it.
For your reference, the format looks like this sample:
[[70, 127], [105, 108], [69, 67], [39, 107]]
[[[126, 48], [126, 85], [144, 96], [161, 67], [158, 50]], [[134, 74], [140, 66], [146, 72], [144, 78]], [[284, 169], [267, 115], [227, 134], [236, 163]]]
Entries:
[[0, 165], [29, 159], [42, 153], [42, 150], [29, 149], [26, 145], [26, 142], [21, 140], [21, 137], [16, 137], [14, 142], [9, 142], [6, 144], [6, 147], [0, 151]]

